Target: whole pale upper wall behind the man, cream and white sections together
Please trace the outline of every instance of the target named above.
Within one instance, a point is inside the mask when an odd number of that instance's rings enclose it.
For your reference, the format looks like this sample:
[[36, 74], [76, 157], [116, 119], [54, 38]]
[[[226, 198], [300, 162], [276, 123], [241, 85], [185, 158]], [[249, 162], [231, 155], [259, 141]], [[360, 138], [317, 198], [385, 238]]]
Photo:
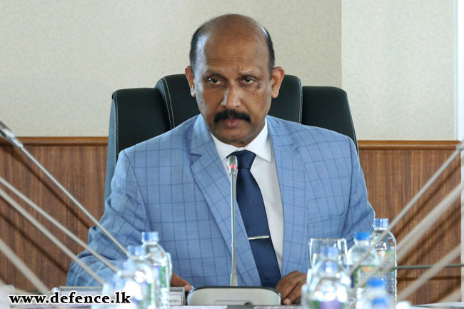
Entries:
[[19, 136], [106, 136], [111, 93], [183, 72], [191, 34], [236, 12], [276, 64], [345, 88], [360, 139], [454, 139], [453, 0], [0, 0], [0, 120]]

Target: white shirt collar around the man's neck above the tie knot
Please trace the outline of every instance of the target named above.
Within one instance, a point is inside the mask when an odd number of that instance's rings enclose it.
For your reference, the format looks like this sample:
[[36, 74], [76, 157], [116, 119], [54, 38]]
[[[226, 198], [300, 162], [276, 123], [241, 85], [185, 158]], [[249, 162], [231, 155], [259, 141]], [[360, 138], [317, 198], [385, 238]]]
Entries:
[[[210, 132], [211, 134], [211, 132]], [[263, 158], [264, 160], [271, 162], [272, 152], [271, 152], [271, 141], [269, 141], [269, 133], [268, 133], [268, 120], [267, 118], [264, 119], [264, 127], [261, 132], [253, 139], [248, 145], [245, 147], [237, 148], [236, 146], [229, 145], [227, 143], [223, 143], [219, 141], [216, 136], [213, 136], [214, 145], [216, 145], [216, 149], [219, 153], [219, 158], [223, 161], [227, 158], [228, 155], [233, 153], [234, 151], [241, 151], [241, 150], [248, 150]]]

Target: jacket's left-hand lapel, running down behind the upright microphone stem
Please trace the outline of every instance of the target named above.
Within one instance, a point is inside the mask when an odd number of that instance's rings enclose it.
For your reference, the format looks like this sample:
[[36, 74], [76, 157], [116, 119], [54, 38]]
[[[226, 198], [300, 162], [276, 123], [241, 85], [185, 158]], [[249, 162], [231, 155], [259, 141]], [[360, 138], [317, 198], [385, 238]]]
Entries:
[[[219, 159], [211, 133], [201, 115], [198, 116], [193, 126], [191, 153], [193, 154], [191, 165], [193, 177], [231, 252], [231, 184], [223, 163]], [[238, 207], [236, 207], [236, 250], [237, 273], [241, 276], [243, 284], [261, 285]]]

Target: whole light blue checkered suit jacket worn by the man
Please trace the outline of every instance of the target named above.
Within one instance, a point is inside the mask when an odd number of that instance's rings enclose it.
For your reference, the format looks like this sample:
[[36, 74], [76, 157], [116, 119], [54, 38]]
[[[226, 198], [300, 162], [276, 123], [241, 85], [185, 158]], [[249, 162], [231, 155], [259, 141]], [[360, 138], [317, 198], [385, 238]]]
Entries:
[[[353, 242], [369, 231], [367, 200], [353, 141], [333, 131], [268, 116], [283, 205], [282, 276], [305, 273], [310, 238]], [[121, 151], [111, 196], [101, 218], [123, 245], [141, 242], [142, 231], [158, 231], [171, 253], [173, 271], [196, 287], [228, 285], [231, 270], [230, 183], [202, 116], [168, 133]], [[236, 214], [239, 285], [261, 285], [243, 221]], [[99, 228], [89, 245], [110, 260], [126, 257]], [[84, 251], [80, 257], [105, 279], [113, 273]], [[68, 285], [98, 285], [73, 263]]]

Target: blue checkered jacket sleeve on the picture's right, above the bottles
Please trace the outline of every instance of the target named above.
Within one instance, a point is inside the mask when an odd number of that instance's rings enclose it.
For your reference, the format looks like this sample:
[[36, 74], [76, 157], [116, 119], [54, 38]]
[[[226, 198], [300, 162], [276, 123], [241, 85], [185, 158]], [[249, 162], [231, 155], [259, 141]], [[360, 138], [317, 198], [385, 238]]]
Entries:
[[[348, 137], [347, 137], [348, 138]], [[355, 144], [348, 138], [351, 156], [350, 201], [342, 235], [346, 238], [348, 248], [353, 245], [355, 232], [371, 231], [375, 213], [368, 201], [363, 170], [359, 163]]]

